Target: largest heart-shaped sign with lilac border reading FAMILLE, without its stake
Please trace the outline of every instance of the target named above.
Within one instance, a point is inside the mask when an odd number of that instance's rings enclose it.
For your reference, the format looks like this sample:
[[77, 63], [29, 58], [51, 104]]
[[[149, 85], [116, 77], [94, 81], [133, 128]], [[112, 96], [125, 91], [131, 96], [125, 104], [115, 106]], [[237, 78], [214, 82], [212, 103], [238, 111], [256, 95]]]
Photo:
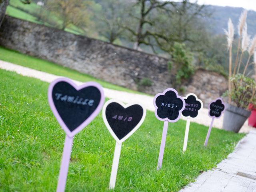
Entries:
[[58, 78], [48, 88], [48, 102], [60, 126], [73, 137], [98, 115], [104, 92], [96, 82], [77, 86], [68, 78]]

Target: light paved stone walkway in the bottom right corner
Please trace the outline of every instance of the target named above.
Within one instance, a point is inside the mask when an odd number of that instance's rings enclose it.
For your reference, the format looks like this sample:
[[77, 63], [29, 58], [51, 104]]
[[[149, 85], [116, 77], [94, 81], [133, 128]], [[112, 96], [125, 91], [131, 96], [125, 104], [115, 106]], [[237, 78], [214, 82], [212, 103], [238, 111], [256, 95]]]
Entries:
[[251, 130], [217, 168], [203, 172], [180, 192], [256, 192], [255, 139], [256, 130]]

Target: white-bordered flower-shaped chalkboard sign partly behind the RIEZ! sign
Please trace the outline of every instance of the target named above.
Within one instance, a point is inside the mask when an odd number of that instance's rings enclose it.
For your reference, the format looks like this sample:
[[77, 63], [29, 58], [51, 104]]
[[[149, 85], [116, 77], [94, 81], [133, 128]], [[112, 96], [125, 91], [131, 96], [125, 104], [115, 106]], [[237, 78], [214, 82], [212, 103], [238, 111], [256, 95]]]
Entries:
[[198, 115], [198, 111], [203, 108], [203, 102], [194, 93], [187, 94], [184, 100], [186, 106], [182, 111], [182, 116], [185, 118], [195, 118]]

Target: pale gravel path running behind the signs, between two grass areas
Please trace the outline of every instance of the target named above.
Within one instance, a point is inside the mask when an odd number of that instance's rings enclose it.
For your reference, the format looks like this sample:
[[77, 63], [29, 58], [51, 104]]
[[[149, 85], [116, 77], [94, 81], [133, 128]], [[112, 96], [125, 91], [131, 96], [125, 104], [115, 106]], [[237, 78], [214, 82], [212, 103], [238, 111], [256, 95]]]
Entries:
[[[8, 71], [14, 71], [18, 74], [21, 74], [23, 76], [28, 76], [28, 77], [34, 77], [37, 79], [40, 79], [45, 82], [52, 82], [54, 79], [59, 78], [60, 76], [49, 74], [46, 72], [34, 70], [31, 68], [23, 67], [20, 65], [12, 64], [9, 62], [5, 62], [0, 60], [0, 68]], [[75, 81], [77, 84], [82, 84], [82, 82]], [[164, 91], [164, 90], [163, 90]], [[118, 90], [112, 90], [108, 88], [104, 88], [104, 93], [105, 96], [108, 98], [112, 99], [118, 99], [122, 102], [125, 103], [130, 103], [130, 102], [137, 102], [142, 104], [146, 109], [150, 111], [154, 111], [154, 106], [153, 106], [153, 96], [147, 96], [143, 94], [134, 94], [134, 93], [128, 93], [124, 91], [118, 91]], [[210, 125], [211, 118], [208, 116], [208, 109], [204, 108], [202, 109], [198, 117], [191, 120], [192, 122], [197, 122], [198, 124], [203, 124], [206, 126]], [[213, 126], [216, 128], [222, 128], [222, 122], [223, 122], [223, 116], [220, 119], [215, 119]], [[244, 123], [244, 126], [241, 128], [240, 132], [249, 132], [253, 128], [248, 126], [248, 121]]]

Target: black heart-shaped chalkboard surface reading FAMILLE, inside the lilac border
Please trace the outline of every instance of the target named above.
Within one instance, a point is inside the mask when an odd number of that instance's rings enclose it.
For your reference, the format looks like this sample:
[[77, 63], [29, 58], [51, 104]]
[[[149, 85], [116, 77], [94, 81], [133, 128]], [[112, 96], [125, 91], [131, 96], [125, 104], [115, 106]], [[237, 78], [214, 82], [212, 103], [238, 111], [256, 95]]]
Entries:
[[68, 82], [60, 81], [52, 88], [52, 100], [63, 122], [72, 132], [96, 110], [101, 93], [95, 86], [76, 90]]

